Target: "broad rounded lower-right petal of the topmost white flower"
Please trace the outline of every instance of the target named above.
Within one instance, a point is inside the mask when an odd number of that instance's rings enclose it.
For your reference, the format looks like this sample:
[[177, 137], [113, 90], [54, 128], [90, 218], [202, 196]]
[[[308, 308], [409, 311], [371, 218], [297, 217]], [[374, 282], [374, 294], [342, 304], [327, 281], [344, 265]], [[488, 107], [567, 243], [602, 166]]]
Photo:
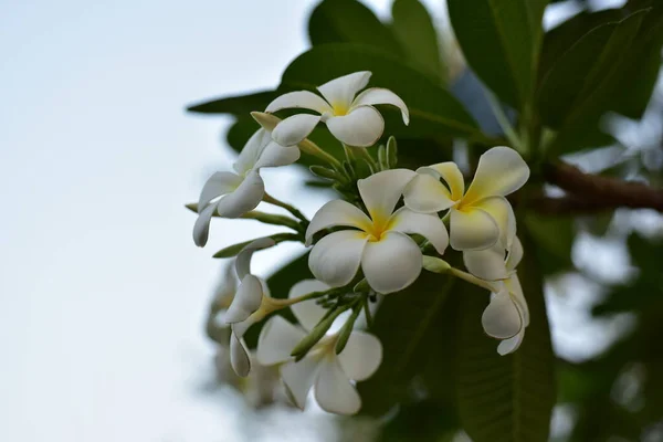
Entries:
[[357, 107], [347, 115], [329, 117], [325, 123], [332, 135], [348, 146], [372, 146], [385, 131], [382, 115], [371, 106]]

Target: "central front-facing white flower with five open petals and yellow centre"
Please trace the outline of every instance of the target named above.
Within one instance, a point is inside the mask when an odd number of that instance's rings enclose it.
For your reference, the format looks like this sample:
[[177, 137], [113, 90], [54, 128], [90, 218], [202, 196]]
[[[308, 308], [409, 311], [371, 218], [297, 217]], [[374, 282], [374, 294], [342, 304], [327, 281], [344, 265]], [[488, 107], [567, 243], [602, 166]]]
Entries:
[[378, 293], [398, 292], [412, 284], [423, 265], [419, 245], [406, 233], [428, 239], [438, 253], [444, 253], [449, 235], [436, 214], [393, 209], [407, 183], [417, 173], [407, 169], [378, 172], [357, 181], [368, 215], [355, 206], [329, 201], [313, 217], [306, 242], [323, 229], [349, 227], [323, 238], [311, 251], [308, 266], [314, 276], [339, 287], [355, 277], [359, 265], [368, 284]]

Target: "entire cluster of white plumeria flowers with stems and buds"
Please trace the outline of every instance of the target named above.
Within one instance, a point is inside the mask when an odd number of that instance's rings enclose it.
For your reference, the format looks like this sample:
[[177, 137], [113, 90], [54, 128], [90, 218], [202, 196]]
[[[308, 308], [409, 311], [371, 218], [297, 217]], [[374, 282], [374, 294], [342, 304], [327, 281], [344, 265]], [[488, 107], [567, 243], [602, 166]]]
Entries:
[[[191, 207], [199, 213], [193, 239], [201, 246], [213, 217], [252, 218], [292, 230], [219, 252], [224, 257], [236, 255], [239, 286], [232, 297], [223, 298], [218, 322], [230, 330], [224, 339], [239, 376], [249, 376], [256, 364], [272, 367], [295, 406], [304, 408], [313, 388], [318, 404], [339, 414], [360, 409], [355, 385], [370, 377], [382, 359], [380, 340], [362, 330], [370, 329], [376, 301], [409, 287], [422, 270], [490, 291], [481, 322], [487, 335], [501, 340], [501, 355], [518, 348], [529, 323], [516, 274], [523, 246], [505, 198], [528, 180], [527, 164], [509, 147], [493, 147], [480, 157], [465, 189], [463, 173], [451, 161], [417, 170], [398, 168], [393, 138], [371, 155], [367, 147], [385, 129], [375, 105], [398, 108], [406, 125], [409, 112], [390, 91], [360, 92], [370, 75], [357, 72], [332, 80], [317, 88], [322, 96], [311, 91], [286, 93], [264, 113], [252, 113], [262, 127], [240, 154], [235, 172], [214, 173], [198, 206]], [[283, 120], [272, 115], [293, 107], [317, 114]], [[332, 156], [308, 138], [319, 123], [340, 141], [345, 158]], [[324, 204], [311, 220], [266, 193], [260, 177], [261, 168], [291, 165], [301, 152], [324, 165], [312, 171], [330, 180], [343, 197]], [[255, 211], [261, 201], [291, 215]], [[294, 284], [287, 297], [282, 293], [272, 297], [267, 283], [251, 273], [250, 262], [253, 253], [282, 241], [311, 248], [308, 266], [316, 280]], [[442, 260], [448, 246], [462, 252], [467, 272]], [[297, 324], [280, 315], [285, 308]], [[245, 333], [267, 316], [252, 354]]]

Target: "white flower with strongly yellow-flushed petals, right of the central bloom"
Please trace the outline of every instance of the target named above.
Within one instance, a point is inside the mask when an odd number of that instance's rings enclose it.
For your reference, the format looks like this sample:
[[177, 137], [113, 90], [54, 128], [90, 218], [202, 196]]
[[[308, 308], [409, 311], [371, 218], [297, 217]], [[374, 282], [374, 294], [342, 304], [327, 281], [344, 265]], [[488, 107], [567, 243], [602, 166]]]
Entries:
[[483, 250], [498, 240], [504, 249], [509, 246], [516, 234], [516, 220], [504, 197], [529, 179], [529, 167], [517, 151], [498, 146], [483, 154], [467, 191], [454, 162], [422, 167], [417, 172], [406, 188], [406, 206], [421, 213], [450, 209], [449, 235], [453, 249]]

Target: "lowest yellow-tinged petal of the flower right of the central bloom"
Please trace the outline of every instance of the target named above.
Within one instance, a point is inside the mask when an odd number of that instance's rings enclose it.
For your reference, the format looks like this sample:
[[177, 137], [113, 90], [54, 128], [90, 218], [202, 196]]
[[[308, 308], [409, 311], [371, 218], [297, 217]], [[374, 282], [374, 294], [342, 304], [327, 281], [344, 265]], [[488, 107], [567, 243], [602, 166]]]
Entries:
[[470, 208], [461, 211], [452, 208], [449, 238], [455, 250], [483, 250], [497, 242], [499, 229], [495, 220], [482, 210]]

